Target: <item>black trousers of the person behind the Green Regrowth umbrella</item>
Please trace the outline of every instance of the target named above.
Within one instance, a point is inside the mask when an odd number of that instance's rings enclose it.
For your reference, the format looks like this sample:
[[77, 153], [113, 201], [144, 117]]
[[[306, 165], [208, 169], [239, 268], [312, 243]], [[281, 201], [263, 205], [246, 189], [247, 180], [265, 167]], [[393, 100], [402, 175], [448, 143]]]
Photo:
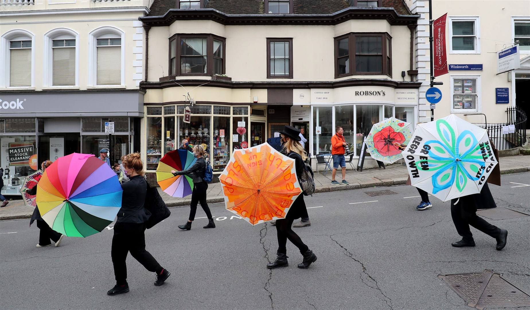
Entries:
[[456, 205], [454, 204], [456, 199], [451, 201], [451, 217], [453, 218], [458, 235], [462, 236], [465, 242], [473, 242], [473, 234], [471, 234], [469, 228], [471, 225], [493, 238], [499, 237], [500, 229], [476, 215], [474, 202], [467, 197], [469, 196], [461, 197]]

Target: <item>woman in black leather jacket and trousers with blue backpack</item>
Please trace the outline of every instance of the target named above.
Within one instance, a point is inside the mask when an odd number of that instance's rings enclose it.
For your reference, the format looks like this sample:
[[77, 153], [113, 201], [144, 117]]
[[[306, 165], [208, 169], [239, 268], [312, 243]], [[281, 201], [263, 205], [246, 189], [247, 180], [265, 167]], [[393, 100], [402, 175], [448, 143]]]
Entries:
[[202, 228], [215, 228], [214, 219], [211, 217], [210, 208], [208, 208], [208, 203], [206, 202], [206, 191], [208, 190], [208, 183], [204, 180], [204, 174], [206, 172], [206, 161], [204, 157], [206, 152], [202, 145], [195, 145], [193, 147], [193, 155], [197, 157], [197, 161], [188, 169], [182, 171], [171, 170], [171, 173], [174, 176], [179, 175], [190, 175], [193, 179], [193, 191], [191, 192], [191, 203], [190, 203], [190, 217], [184, 225], [179, 225], [179, 228], [182, 230], [190, 230], [191, 222], [195, 220], [195, 213], [197, 212], [197, 203], [200, 202], [202, 210], [206, 213], [208, 217], [208, 224]]

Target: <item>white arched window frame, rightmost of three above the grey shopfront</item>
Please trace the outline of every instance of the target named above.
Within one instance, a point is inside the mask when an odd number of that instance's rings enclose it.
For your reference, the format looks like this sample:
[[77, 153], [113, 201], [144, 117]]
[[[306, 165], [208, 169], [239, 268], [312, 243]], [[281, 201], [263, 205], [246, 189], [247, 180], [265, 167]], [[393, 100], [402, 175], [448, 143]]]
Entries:
[[[121, 38], [121, 85], [98, 85], [98, 38], [115, 35]], [[89, 81], [90, 88], [125, 88], [125, 32], [115, 27], [100, 27], [89, 33]]]

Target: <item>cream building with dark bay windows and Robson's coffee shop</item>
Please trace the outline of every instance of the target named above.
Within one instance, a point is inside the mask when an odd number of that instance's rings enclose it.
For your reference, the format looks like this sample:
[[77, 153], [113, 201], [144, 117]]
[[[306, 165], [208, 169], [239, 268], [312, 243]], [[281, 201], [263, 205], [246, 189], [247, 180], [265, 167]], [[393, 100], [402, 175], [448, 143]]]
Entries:
[[219, 173], [234, 149], [285, 125], [305, 129], [312, 156], [343, 126], [358, 157], [373, 123], [416, 124], [418, 18], [390, 0], [155, 1], [140, 18], [148, 175], [184, 138], [205, 144]]

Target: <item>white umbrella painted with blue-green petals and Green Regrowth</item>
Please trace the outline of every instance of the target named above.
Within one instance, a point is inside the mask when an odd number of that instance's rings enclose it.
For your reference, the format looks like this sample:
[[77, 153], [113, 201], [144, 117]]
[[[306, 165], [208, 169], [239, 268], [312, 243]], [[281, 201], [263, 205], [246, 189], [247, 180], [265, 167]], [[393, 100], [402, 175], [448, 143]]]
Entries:
[[418, 125], [403, 151], [411, 184], [442, 201], [478, 194], [497, 165], [484, 128], [450, 115]]

